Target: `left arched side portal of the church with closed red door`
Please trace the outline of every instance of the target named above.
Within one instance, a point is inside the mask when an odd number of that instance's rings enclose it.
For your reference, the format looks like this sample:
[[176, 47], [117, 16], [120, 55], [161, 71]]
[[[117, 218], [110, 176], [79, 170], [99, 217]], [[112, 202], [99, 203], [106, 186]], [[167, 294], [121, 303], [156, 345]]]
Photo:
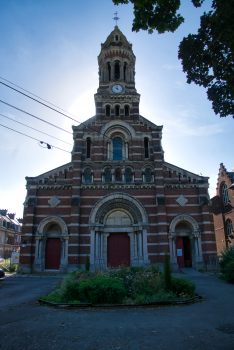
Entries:
[[36, 232], [34, 271], [66, 270], [68, 265], [68, 229], [58, 216], [49, 216]]

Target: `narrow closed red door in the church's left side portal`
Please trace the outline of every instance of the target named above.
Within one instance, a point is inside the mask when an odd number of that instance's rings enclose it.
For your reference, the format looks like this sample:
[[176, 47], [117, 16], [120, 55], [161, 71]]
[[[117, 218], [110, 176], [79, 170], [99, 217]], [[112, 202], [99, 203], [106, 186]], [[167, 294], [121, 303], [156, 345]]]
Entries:
[[46, 241], [45, 269], [58, 270], [61, 260], [61, 240], [48, 238]]

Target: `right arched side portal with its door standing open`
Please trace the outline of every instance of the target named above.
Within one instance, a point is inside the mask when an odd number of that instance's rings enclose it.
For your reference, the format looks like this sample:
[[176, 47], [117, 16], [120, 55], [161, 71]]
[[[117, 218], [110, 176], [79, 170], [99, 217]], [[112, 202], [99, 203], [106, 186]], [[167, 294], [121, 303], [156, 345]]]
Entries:
[[178, 215], [169, 228], [170, 262], [173, 270], [184, 267], [203, 268], [201, 233], [190, 215]]

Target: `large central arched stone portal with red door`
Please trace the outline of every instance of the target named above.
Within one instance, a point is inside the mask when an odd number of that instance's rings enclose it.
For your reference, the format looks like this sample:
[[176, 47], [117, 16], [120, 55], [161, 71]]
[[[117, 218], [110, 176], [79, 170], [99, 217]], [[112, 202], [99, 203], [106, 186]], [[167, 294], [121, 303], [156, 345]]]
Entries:
[[98, 201], [90, 214], [92, 268], [148, 264], [148, 218], [134, 197], [115, 193]]

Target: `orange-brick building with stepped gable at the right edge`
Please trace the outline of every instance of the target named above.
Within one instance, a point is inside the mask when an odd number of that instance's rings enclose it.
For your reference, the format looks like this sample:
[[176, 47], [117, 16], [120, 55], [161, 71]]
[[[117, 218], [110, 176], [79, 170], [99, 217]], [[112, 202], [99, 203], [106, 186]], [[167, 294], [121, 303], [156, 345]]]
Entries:
[[217, 253], [234, 245], [234, 168], [227, 171], [220, 164], [216, 196], [211, 199]]

